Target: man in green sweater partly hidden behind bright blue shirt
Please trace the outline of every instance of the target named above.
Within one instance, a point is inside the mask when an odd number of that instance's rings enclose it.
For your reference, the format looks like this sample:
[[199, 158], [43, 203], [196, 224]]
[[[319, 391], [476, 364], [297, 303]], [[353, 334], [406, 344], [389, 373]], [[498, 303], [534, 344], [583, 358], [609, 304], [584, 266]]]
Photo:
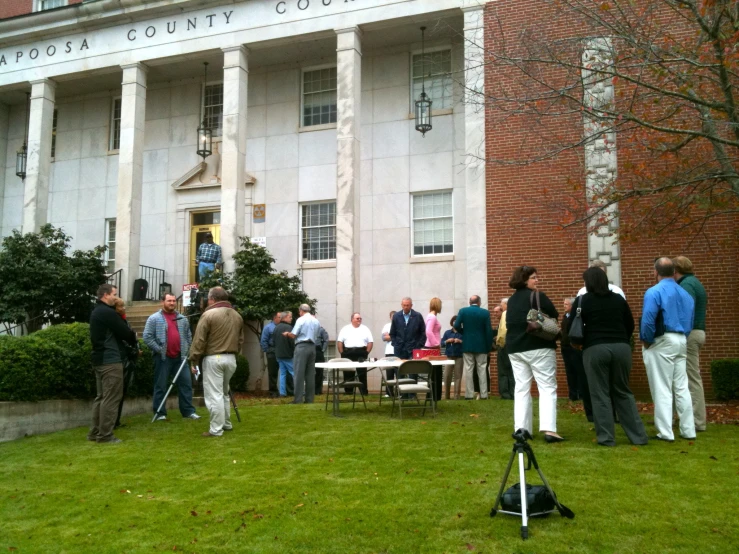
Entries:
[[688, 258], [678, 256], [672, 260], [672, 263], [675, 266], [675, 280], [695, 301], [693, 330], [688, 335], [688, 390], [690, 390], [690, 398], [693, 401], [695, 430], [705, 431], [706, 399], [703, 393], [703, 380], [701, 379], [698, 361], [700, 349], [706, 342], [706, 289], [693, 275], [693, 263]]

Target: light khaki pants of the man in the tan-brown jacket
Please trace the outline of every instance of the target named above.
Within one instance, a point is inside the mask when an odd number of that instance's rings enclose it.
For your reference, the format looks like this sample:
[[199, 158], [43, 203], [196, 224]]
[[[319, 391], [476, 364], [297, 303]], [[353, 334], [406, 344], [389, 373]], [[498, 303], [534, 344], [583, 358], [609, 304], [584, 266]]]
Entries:
[[210, 434], [220, 437], [232, 429], [229, 382], [236, 371], [236, 356], [215, 354], [203, 358], [203, 396], [210, 414]]

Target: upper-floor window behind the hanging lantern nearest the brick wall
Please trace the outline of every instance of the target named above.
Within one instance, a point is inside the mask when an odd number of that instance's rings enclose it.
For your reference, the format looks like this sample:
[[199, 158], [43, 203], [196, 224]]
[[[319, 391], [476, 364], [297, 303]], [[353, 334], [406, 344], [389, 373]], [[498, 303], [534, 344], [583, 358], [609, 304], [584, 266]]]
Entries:
[[442, 110], [453, 105], [452, 50], [426, 51], [413, 54], [412, 60], [412, 98], [411, 103], [421, 97], [425, 88], [431, 101], [431, 108]]

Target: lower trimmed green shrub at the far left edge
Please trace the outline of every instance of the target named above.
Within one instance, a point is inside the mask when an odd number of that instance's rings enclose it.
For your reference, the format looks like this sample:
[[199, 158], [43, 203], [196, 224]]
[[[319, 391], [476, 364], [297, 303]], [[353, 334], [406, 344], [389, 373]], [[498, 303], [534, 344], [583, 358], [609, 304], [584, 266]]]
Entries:
[[0, 341], [0, 400], [68, 398], [66, 352], [50, 341], [3, 337]]

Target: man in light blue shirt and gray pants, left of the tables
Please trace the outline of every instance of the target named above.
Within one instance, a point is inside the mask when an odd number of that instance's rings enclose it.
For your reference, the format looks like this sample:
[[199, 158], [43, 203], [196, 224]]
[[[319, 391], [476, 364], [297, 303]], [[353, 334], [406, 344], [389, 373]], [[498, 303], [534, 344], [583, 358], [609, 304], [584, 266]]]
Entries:
[[298, 308], [300, 317], [295, 322], [292, 332], [283, 335], [295, 339], [295, 354], [293, 355], [293, 372], [295, 379], [295, 400], [293, 404], [313, 404], [316, 395], [316, 343], [321, 324], [310, 313], [308, 304], [301, 304]]

